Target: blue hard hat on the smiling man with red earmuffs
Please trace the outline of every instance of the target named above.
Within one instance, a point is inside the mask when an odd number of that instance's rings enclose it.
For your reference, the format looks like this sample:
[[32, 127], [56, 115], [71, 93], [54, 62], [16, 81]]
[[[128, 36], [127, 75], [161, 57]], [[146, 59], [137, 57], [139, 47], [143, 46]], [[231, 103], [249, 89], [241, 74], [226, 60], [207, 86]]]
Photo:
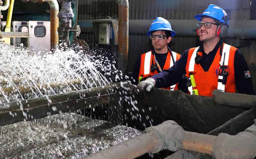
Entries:
[[198, 14], [195, 18], [199, 21], [202, 20], [202, 16], [208, 16], [219, 20], [221, 23], [229, 24], [227, 13], [220, 7], [216, 5], [209, 5], [209, 7], [203, 12], [203, 14]]

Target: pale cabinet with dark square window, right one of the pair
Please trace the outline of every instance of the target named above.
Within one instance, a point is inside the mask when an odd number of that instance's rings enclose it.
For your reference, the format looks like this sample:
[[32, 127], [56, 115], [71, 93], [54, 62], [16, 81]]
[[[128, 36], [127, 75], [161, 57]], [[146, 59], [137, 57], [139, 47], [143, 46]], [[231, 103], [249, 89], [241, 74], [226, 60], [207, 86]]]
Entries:
[[29, 21], [29, 49], [37, 53], [50, 51], [50, 21]]

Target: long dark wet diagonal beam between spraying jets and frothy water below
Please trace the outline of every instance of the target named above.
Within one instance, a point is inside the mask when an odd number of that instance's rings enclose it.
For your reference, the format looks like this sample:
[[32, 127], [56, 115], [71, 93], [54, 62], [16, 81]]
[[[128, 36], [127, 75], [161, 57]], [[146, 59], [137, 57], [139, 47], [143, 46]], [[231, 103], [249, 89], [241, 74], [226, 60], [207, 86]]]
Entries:
[[[84, 108], [94, 108], [98, 105], [118, 102], [121, 97], [119, 91], [123, 90], [122, 87], [127, 83], [129, 82], [2, 103], [0, 104], [0, 125], [44, 118], [49, 115], [67, 113]], [[129, 89], [134, 93], [138, 90], [136, 87]], [[118, 108], [115, 108], [115, 111], [118, 111]], [[116, 113], [116, 116], [118, 116], [118, 113]], [[115, 119], [118, 119], [118, 117], [115, 117]]]

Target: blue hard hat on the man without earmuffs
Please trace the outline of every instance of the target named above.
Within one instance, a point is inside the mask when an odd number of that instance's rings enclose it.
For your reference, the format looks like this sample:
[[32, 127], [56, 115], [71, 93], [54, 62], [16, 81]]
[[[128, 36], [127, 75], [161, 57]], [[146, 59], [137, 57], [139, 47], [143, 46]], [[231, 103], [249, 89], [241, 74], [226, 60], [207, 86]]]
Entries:
[[146, 33], [147, 36], [151, 36], [152, 32], [154, 31], [169, 31], [172, 33], [172, 37], [176, 35], [175, 31], [172, 30], [172, 26], [170, 26], [170, 23], [168, 20], [157, 17], [150, 26], [150, 30]]

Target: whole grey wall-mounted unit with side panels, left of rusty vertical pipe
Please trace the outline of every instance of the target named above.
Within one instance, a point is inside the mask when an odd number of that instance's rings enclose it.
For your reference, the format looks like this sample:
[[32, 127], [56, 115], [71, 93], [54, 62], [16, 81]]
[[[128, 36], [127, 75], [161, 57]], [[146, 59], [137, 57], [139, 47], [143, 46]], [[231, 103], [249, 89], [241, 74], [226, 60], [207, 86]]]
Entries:
[[118, 20], [99, 19], [92, 20], [95, 39], [99, 44], [117, 45], [118, 44]]

